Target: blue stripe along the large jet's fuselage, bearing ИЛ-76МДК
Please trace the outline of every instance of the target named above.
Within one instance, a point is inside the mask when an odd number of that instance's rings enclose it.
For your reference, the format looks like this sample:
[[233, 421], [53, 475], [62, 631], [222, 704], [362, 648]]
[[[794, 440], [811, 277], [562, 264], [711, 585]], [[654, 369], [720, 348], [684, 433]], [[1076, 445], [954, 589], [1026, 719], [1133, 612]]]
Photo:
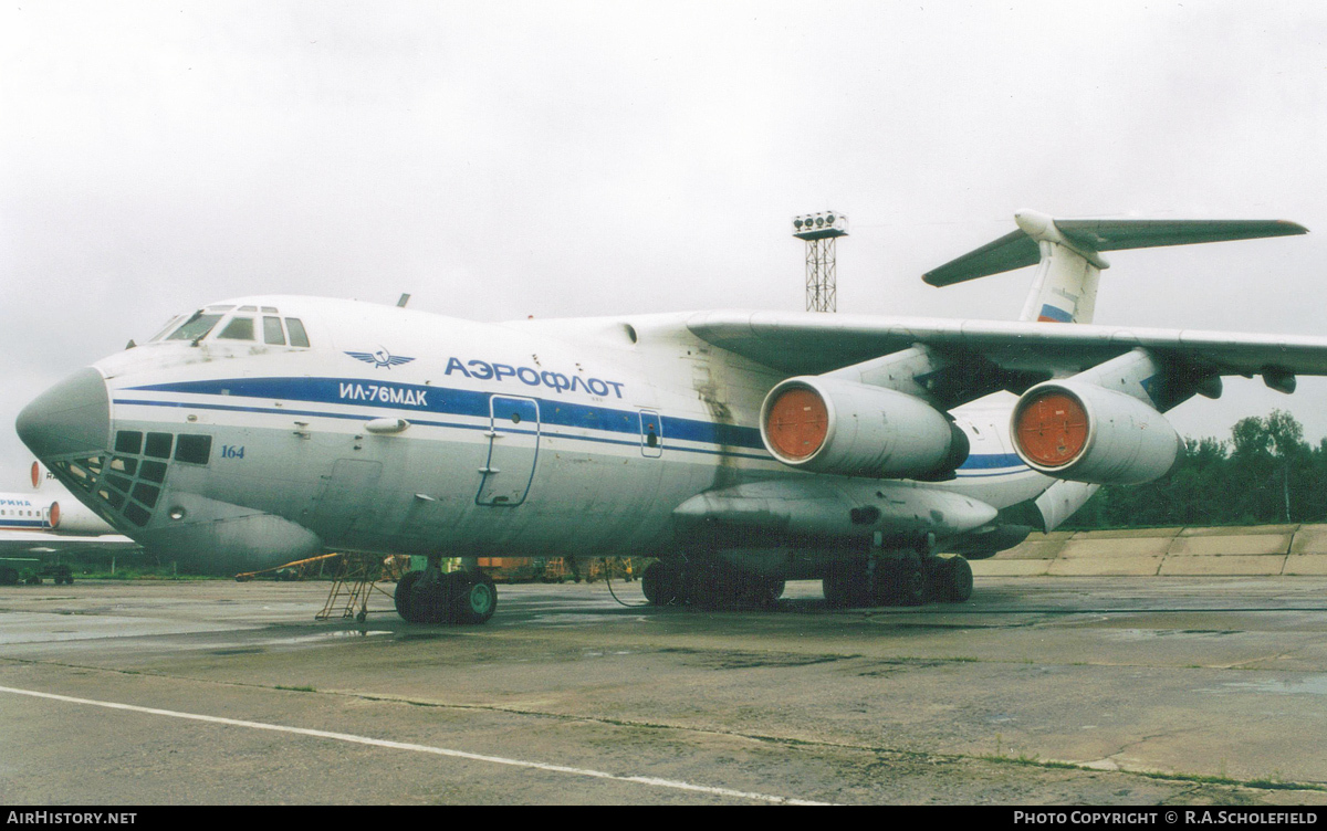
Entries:
[[[147, 384], [130, 387], [146, 392], [178, 392], [187, 395], [215, 395], [226, 398], [263, 398], [273, 400], [308, 402], [318, 404], [346, 404], [354, 407], [373, 407], [378, 410], [395, 410], [405, 412], [429, 412], [453, 416], [470, 416], [476, 419], [491, 417], [490, 399], [495, 395], [512, 398], [502, 392], [483, 392], [476, 390], [455, 390], [449, 387], [433, 387], [422, 384], [402, 384], [395, 382], [370, 382], [362, 379], [342, 378], [232, 378], [223, 380], [186, 380], [166, 384]], [[387, 390], [386, 400], [377, 400], [378, 390]], [[370, 392], [372, 391], [372, 392]], [[373, 400], [365, 400], [365, 395]], [[395, 398], [395, 400], [391, 400]], [[516, 396], [535, 398], [535, 396]], [[640, 445], [641, 423], [640, 412], [636, 410], [614, 410], [612, 407], [594, 407], [572, 402], [536, 398], [539, 402], [540, 428], [547, 435], [561, 439], [575, 439], [581, 441], [597, 441], [600, 444], [620, 444], [628, 447]], [[361, 414], [324, 412], [316, 410], [289, 410], [285, 407], [249, 407], [243, 404], [200, 404], [190, 402], [159, 402], [147, 399], [115, 399], [117, 404], [138, 404], [145, 407], [192, 407], [199, 410], [215, 410], [224, 412], [261, 412], [285, 416], [311, 416], [322, 419], [353, 419], [362, 420]], [[425, 419], [410, 419], [411, 424], [427, 427], [446, 427], [454, 429], [488, 429], [487, 424], [464, 424], [459, 421], [434, 421]], [[760, 440], [760, 431], [755, 427], [739, 427], [734, 424], [715, 424], [699, 419], [681, 419], [677, 416], [661, 416], [662, 439], [665, 447], [671, 451], [686, 451], [691, 453], [706, 453], [718, 456], [739, 456], [742, 459], [770, 459], [766, 453], [764, 443]], [[636, 440], [606, 439], [596, 436], [568, 436], [547, 431], [549, 427], [571, 427], [575, 429], [593, 429], [608, 433], [624, 433], [636, 436]], [[759, 451], [759, 453], [740, 453], [733, 451], [710, 451], [702, 448], [685, 448], [671, 444], [671, 441], [693, 441], [697, 444], [711, 444], [719, 447], [734, 447]], [[991, 471], [995, 468], [1023, 468], [1022, 460], [1013, 453], [990, 453], [969, 456], [959, 471]], [[989, 473], [987, 476], [995, 476]]]

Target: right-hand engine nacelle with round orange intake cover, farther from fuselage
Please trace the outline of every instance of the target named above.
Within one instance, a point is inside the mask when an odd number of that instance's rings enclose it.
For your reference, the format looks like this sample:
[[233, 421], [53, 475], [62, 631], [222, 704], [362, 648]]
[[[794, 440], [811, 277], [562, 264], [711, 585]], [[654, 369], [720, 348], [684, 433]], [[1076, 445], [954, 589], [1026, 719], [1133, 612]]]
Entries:
[[1024, 392], [1010, 433], [1019, 459], [1034, 471], [1100, 485], [1160, 478], [1184, 447], [1165, 416], [1144, 402], [1072, 379]]

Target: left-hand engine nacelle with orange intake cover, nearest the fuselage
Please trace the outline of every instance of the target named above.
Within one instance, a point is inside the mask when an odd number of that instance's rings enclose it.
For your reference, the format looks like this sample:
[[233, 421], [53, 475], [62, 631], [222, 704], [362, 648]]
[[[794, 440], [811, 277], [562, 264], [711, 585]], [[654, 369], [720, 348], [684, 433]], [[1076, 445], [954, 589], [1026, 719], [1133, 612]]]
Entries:
[[967, 459], [967, 436], [904, 392], [824, 376], [790, 378], [760, 407], [760, 439], [786, 465], [816, 473], [942, 478]]

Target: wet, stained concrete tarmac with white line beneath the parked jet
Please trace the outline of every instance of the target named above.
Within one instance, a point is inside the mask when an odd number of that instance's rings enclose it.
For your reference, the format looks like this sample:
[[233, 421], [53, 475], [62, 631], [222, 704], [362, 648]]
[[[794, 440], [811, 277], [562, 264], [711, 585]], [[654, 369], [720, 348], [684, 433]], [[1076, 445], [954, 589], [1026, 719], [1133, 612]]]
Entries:
[[500, 586], [480, 627], [320, 623], [317, 582], [3, 587], [0, 803], [1327, 804], [1327, 578], [788, 586]]

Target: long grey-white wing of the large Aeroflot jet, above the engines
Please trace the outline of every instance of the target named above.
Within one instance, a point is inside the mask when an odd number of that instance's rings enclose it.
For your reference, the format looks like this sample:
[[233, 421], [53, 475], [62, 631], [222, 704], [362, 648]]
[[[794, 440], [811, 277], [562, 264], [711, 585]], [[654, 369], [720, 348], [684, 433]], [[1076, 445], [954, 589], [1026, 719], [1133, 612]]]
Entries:
[[1028, 380], [1082, 372], [1143, 347], [1216, 375], [1327, 375], [1327, 338], [851, 314], [703, 311], [687, 329], [714, 346], [790, 375], [928, 346], [974, 367]]

